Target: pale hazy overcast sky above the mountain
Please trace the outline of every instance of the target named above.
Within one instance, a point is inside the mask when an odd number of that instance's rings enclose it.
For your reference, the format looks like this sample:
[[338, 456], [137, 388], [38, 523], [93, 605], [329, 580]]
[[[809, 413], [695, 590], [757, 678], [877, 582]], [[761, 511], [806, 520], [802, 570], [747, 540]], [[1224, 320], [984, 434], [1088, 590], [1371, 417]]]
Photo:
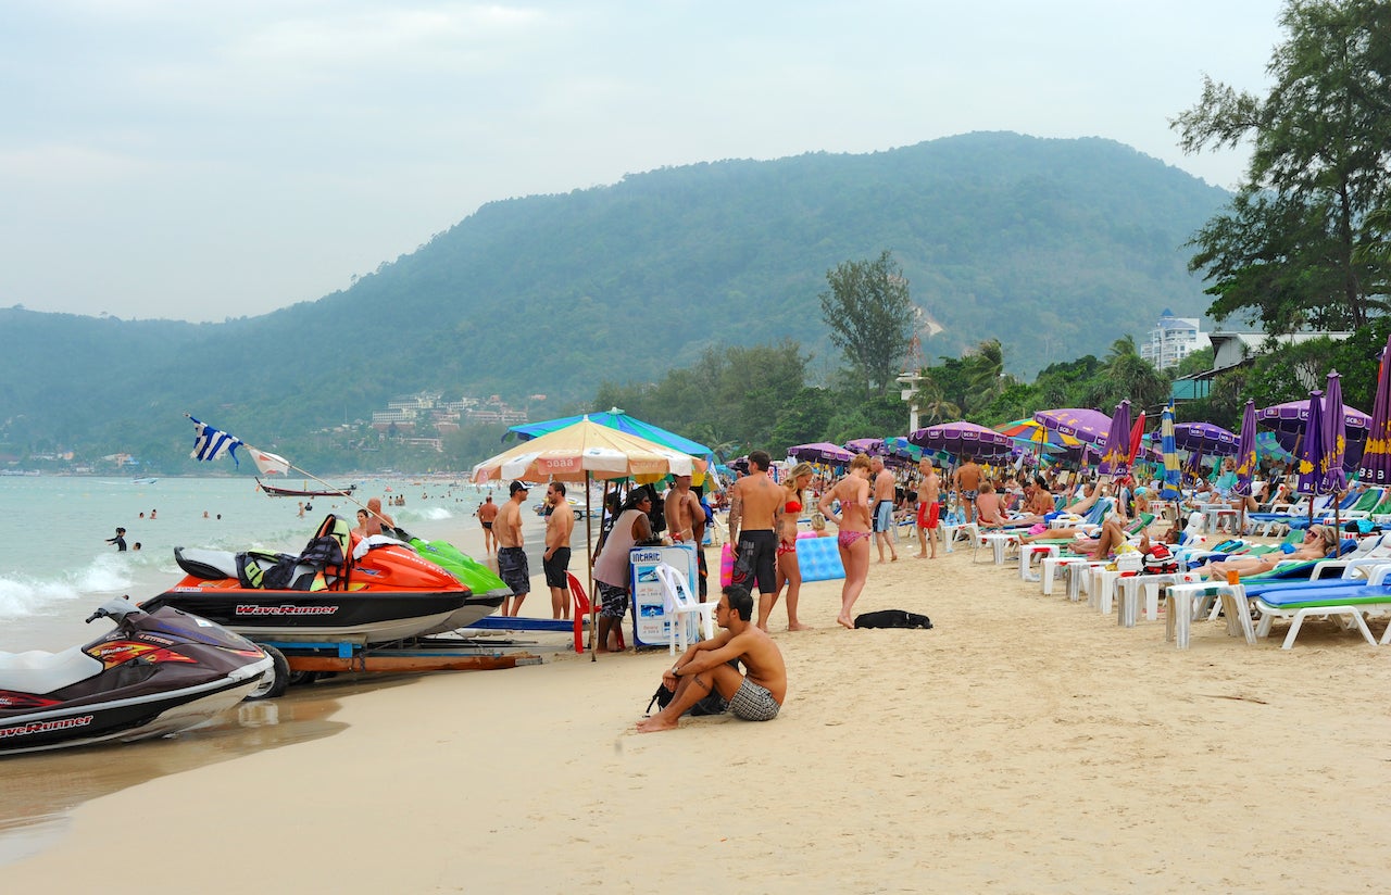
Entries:
[[1264, 93], [1277, 0], [0, 3], [0, 307], [223, 320], [495, 199], [971, 131], [1103, 136]]

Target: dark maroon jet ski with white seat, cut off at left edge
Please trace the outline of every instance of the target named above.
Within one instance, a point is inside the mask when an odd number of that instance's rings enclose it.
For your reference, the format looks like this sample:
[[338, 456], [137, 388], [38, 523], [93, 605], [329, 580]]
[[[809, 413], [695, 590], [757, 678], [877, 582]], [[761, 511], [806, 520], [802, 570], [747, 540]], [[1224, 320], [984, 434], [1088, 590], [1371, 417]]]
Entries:
[[0, 652], [0, 755], [177, 734], [256, 696], [273, 670], [250, 641], [177, 609], [113, 599], [96, 618], [115, 630], [86, 646]]

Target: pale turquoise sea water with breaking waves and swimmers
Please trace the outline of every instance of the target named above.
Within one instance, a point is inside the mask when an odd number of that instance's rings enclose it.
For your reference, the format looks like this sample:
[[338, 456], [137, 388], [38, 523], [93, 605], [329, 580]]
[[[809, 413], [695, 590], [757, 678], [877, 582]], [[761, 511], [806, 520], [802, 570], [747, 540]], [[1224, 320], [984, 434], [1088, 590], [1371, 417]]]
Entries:
[[[277, 484], [305, 486], [298, 479]], [[484, 496], [505, 499], [497, 482], [474, 486], [462, 478], [355, 484], [353, 500], [383, 498], [383, 510], [410, 534], [460, 546], [477, 538], [474, 510]], [[405, 506], [389, 504], [398, 495]], [[302, 517], [300, 502], [309, 504]], [[356, 525], [359, 504], [345, 498], [268, 498], [249, 474], [153, 484], [4, 475], [0, 507], [10, 520], [0, 535], [0, 650], [22, 652], [65, 649], [104, 634], [108, 628], [97, 631], [83, 620], [108, 598], [142, 600], [168, 589], [184, 577], [174, 561], [177, 546], [299, 553], [328, 513]], [[117, 525], [125, 528], [124, 553], [106, 542]]]

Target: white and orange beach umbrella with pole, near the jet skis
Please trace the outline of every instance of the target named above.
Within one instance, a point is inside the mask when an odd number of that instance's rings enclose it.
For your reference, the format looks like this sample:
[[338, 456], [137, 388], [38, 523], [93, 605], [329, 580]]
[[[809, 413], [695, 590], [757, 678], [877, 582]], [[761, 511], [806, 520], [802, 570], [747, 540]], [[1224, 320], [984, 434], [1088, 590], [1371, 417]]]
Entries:
[[[632, 478], [637, 482], [655, 482], [666, 475], [693, 475], [696, 471], [704, 471], [704, 460], [696, 460], [675, 448], [581, 417], [579, 422], [538, 435], [488, 457], [473, 467], [470, 478], [476, 484], [508, 478], [527, 482], [551, 479], [584, 482], [586, 518], [593, 518], [588, 488], [591, 481]], [[584, 532], [587, 539], [593, 536], [588, 524], [584, 525]], [[593, 556], [593, 542], [587, 546]], [[593, 567], [590, 593], [594, 593]], [[590, 600], [591, 631], [598, 631], [598, 606], [597, 599]], [[598, 648], [598, 638], [591, 638], [591, 646]]]

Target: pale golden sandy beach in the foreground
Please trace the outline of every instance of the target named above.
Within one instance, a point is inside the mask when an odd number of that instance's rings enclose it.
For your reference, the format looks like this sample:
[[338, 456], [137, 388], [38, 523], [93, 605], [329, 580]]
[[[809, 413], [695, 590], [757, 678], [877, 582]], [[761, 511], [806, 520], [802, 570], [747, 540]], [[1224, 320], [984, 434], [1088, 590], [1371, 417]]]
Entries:
[[1391, 652], [1324, 623], [1289, 652], [1198, 623], [1178, 652], [1163, 623], [914, 550], [871, 567], [857, 611], [936, 628], [844, 631], [840, 582], [805, 585], [817, 630], [775, 634], [772, 723], [633, 732], [665, 650], [331, 687], [334, 730], [90, 800], [0, 873], [14, 891], [149, 891], [142, 871], [203, 892], [1380, 889]]

